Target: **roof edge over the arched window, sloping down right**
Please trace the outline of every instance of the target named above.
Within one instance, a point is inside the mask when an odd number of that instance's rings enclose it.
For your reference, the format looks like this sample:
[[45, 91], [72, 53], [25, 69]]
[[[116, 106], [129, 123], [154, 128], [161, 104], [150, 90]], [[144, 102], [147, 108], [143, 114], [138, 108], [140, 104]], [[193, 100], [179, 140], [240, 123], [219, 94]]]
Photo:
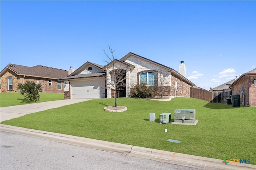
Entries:
[[130, 57], [131, 55], [136, 56], [136, 57], [139, 57], [139, 58], [144, 59], [144, 60], [146, 60], [146, 61], [149, 61], [150, 63], [154, 63], [154, 64], [156, 64], [156, 65], [158, 65], [158, 66], [160, 66], [160, 67], [163, 67], [163, 68], [165, 68], [165, 69], [168, 69], [172, 74], [174, 74], [174, 75], [176, 75], [176, 76], [182, 78], [183, 81], [186, 81], [187, 83], [189, 83], [189, 84], [195, 86], [194, 83], [192, 83], [190, 80], [188, 80], [186, 77], [184, 77], [183, 75], [181, 75], [180, 73], [178, 73], [176, 70], [172, 69], [171, 67], [167, 67], [167, 66], [165, 66], [165, 65], [162, 65], [162, 64], [160, 64], [160, 63], [157, 63], [156, 61], [152, 61], [152, 60], [150, 60], [150, 59], [147, 59], [147, 58], [142, 57], [142, 56], [140, 56], [140, 55], [137, 55], [137, 54], [135, 54], [135, 53], [129, 52], [129, 53], [126, 54], [124, 57], [122, 57], [122, 58], [120, 59], [120, 61], [126, 60], [126, 59], [127, 59], [128, 57]]

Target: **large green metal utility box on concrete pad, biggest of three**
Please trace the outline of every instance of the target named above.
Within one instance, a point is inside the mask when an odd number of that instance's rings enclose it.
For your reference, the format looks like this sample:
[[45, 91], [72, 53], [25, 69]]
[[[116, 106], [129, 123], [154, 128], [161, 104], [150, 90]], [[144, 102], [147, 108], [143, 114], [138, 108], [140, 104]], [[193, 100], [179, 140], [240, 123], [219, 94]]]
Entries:
[[174, 122], [178, 123], [195, 123], [195, 109], [176, 109], [174, 110]]

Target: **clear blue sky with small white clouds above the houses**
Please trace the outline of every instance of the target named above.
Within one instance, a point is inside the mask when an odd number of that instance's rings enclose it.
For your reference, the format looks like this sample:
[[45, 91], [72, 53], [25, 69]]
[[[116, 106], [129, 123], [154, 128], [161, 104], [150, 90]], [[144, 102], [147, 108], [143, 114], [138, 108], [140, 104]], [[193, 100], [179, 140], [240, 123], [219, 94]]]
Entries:
[[1, 71], [136, 53], [209, 90], [256, 67], [256, 1], [0, 1]]

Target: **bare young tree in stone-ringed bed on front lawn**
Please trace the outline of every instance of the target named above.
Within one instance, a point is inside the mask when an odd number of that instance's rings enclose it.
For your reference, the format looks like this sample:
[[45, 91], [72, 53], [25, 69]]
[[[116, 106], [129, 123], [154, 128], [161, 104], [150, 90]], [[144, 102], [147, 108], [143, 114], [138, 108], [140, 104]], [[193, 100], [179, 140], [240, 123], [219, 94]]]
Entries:
[[124, 63], [116, 59], [116, 56], [114, 55], [115, 50], [113, 50], [110, 45], [108, 45], [108, 50], [110, 54], [108, 54], [106, 50], [103, 50], [104, 54], [108, 57], [108, 59], [104, 61], [106, 63], [110, 63], [111, 65], [111, 67], [108, 69], [110, 70], [110, 75], [107, 74], [106, 88], [111, 90], [114, 89], [115, 107], [117, 107], [116, 98], [118, 91], [124, 90], [126, 87], [126, 71], [122, 69], [124, 68]]

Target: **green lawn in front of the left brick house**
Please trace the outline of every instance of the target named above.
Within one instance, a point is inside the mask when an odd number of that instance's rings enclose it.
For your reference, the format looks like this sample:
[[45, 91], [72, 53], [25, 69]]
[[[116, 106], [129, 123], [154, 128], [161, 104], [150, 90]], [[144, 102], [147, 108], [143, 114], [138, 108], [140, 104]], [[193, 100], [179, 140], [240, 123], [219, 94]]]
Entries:
[[[40, 93], [40, 101], [37, 101], [37, 103], [63, 99], [63, 93]], [[0, 107], [25, 105], [30, 103], [35, 102], [25, 99], [25, 97], [22, 96], [20, 93], [0, 93]]]

